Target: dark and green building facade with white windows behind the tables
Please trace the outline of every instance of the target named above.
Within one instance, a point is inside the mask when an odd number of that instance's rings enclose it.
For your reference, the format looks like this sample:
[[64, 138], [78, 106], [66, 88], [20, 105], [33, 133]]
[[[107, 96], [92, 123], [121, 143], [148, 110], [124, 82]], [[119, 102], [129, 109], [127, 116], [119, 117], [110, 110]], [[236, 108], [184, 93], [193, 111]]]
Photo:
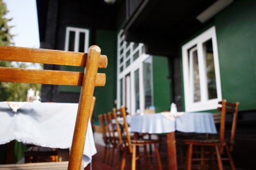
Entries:
[[[256, 121], [255, 1], [37, 0], [41, 48], [108, 56], [97, 115], [126, 105], [131, 114], [213, 111], [240, 101], [238, 121]], [[72, 67], [44, 66], [46, 69]], [[43, 86], [42, 100], [78, 102], [79, 88]], [[97, 97], [99, 96], [99, 97]]]

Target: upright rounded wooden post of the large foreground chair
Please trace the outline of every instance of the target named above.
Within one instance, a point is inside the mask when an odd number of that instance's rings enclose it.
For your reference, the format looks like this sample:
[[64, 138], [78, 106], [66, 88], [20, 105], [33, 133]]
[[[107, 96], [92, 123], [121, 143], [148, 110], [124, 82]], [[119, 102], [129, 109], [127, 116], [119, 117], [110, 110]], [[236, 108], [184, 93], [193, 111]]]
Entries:
[[[90, 106], [94, 92], [96, 75], [98, 71], [101, 49], [96, 46], [90, 46], [86, 58], [84, 77], [82, 78], [82, 87], [77, 110], [75, 130], [69, 155], [68, 169], [80, 169], [82, 163], [82, 154], [84, 151], [86, 131], [90, 116]], [[83, 127], [83, 128], [81, 128]]]

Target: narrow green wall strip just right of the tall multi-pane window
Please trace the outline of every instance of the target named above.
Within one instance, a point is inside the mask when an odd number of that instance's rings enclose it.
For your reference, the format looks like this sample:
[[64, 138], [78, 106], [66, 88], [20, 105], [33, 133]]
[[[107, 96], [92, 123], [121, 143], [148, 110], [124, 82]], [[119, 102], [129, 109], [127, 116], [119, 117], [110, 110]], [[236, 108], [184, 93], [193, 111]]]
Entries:
[[155, 112], [168, 111], [171, 105], [171, 84], [168, 58], [153, 56], [153, 90]]

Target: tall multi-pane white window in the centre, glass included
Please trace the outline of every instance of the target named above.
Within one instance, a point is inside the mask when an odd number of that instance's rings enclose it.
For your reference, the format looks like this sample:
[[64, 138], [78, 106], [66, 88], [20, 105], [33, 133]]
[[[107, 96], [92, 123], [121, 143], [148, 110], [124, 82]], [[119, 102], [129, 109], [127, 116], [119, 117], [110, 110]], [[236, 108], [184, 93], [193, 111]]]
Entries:
[[142, 43], [126, 42], [118, 34], [117, 107], [125, 105], [131, 114], [153, 105], [152, 57]]

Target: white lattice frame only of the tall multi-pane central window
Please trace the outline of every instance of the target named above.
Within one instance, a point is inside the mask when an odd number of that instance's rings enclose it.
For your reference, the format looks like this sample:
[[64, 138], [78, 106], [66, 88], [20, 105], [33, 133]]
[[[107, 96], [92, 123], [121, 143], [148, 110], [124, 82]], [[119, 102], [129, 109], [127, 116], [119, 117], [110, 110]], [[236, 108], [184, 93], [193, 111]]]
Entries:
[[[122, 101], [123, 103], [126, 103], [126, 96], [125, 96], [125, 78], [126, 75], [130, 74], [130, 85], [131, 85], [131, 93], [130, 93], [130, 108], [127, 106], [128, 112], [130, 112], [132, 115], [136, 113], [135, 111], [135, 83], [134, 83], [134, 77], [135, 77], [135, 71], [139, 69], [139, 111], [144, 111], [144, 86], [143, 86], [143, 62], [151, 57], [149, 54], [145, 54], [144, 44], [139, 43], [137, 48], [133, 49], [134, 42], [130, 42], [129, 46], [126, 46], [128, 42], [125, 41], [125, 36], [123, 35], [123, 30], [121, 30], [118, 33], [118, 46], [117, 46], [117, 107], [121, 107], [123, 105], [121, 103], [121, 89], [122, 89]], [[126, 52], [130, 50], [129, 56], [125, 56]], [[139, 52], [139, 56], [135, 61], [133, 61], [133, 55], [135, 53]], [[121, 58], [123, 59], [121, 62]], [[130, 65], [126, 66], [126, 61], [130, 59]], [[121, 71], [121, 67], [123, 67], [123, 70]], [[122, 80], [122, 85], [120, 85], [120, 81]], [[152, 76], [151, 76], [152, 81]], [[153, 91], [153, 87], [152, 87]], [[154, 100], [152, 100], [154, 102]], [[129, 103], [129, 102], [128, 102]], [[152, 103], [153, 104], [153, 103]]]

